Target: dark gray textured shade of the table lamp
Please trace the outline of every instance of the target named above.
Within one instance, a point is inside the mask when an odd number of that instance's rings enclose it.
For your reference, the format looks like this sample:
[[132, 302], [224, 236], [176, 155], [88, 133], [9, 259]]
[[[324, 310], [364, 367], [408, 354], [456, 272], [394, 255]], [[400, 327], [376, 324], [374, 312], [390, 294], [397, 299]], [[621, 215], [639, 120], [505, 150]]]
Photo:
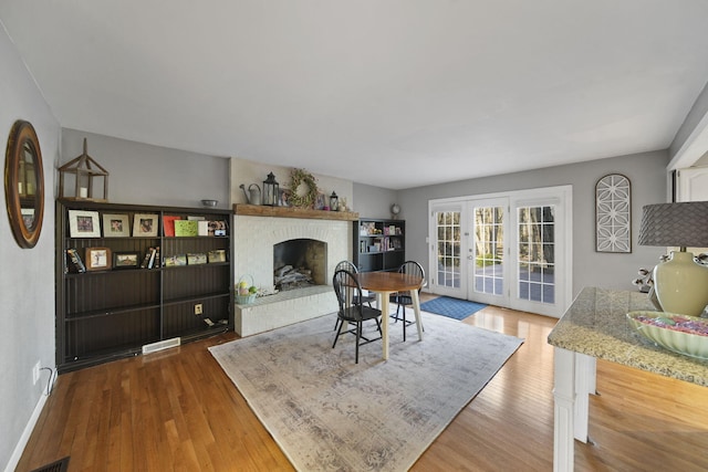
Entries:
[[639, 244], [708, 247], [708, 201], [645, 206]]

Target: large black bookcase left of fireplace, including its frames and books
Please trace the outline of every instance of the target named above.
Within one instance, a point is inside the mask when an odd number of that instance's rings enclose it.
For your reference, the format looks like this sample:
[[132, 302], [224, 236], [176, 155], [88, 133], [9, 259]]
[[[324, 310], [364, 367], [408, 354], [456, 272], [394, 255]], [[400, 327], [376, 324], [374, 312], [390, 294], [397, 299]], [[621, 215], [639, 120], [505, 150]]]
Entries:
[[233, 328], [231, 212], [56, 201], [60, 373]]

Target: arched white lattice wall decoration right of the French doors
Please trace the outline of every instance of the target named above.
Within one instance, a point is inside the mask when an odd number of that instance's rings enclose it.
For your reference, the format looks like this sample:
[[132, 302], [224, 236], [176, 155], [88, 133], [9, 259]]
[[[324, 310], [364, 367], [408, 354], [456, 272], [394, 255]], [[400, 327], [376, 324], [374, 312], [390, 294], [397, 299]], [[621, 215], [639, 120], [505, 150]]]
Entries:
[[595, 251], [632, 252], [632, 186], [623, 175], [595, 185]]

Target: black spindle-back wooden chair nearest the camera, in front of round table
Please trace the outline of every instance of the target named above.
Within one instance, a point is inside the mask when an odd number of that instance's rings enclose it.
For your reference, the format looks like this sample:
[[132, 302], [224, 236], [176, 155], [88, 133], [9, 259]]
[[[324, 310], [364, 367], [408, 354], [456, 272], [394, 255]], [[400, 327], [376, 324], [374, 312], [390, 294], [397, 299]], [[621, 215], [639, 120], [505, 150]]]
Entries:
[[[340, 307], [336, 314], [337, 319], [341, 324], [346, 323], [347, 325], [346, 331], [343, 331], [343, 328], [336, 331], [332, 348], [334, 349], [334, 346], [336, 346], [336, 342], [341, 335], [346, 333], [355, 334], [355, 363], [358, 364], [358, 347], [382, 338], [381, 323], [378, 322], [381, 310], [372, 308], [371, 306], [364, 305], [364, 303], [362, 302], [362, 286], [360, 285], [353, 272], [346, 270], [336, 271], [334, 273], [334, 276], [332, 277], [332, 286], [334, 287], [334, 293], [336, 294], [336, 301]], [[364, 322], [371, 319], [376, 322], [378, 337], [367, 338], [362, 335]], [[355, 325], [354, 328], [350, 328], [350, 324]]]

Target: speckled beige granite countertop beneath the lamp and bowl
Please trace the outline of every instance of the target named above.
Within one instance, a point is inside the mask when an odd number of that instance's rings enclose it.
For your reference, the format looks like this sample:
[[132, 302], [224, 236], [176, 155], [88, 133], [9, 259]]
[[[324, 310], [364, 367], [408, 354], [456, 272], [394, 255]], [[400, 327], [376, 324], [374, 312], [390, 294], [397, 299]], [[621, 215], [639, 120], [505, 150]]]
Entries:
[[549, 334], [552, 346], [708, 387], [708, 360], [671, 353], [629, 325], [632, 311], [656, 311], [646, 293], [585, 287]]

